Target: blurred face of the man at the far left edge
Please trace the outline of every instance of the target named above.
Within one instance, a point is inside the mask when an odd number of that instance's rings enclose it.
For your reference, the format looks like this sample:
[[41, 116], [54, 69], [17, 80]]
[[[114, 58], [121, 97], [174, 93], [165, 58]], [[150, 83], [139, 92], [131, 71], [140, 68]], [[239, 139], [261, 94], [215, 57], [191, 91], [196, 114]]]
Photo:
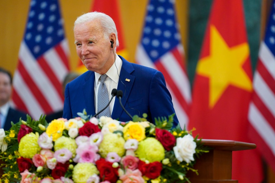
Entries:
[[8, 74], [0, 72], [0, 106], [9, 101], [11, 91], [11, 81]]

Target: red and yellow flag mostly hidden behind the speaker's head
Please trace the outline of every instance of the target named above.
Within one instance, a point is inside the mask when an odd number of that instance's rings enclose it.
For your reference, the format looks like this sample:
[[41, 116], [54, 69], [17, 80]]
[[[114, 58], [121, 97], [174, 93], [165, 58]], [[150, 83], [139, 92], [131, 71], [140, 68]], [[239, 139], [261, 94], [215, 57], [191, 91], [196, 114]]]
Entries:
[[[128, 59], [128, 53], [124, 41], [123, 27], [121, 23], [120, 8], [118, 0], [94, 0], [94, 4], [91, 7], [91, 12], [97, 11], [109, 15], [116, 24], [116, 30], [118, 32], [119, 47], [116, 48], [116, 53]], [[86, 67], [82, 64], [81, 60], [78, 62], [76, 70], [80, 73], [87, 71]]]

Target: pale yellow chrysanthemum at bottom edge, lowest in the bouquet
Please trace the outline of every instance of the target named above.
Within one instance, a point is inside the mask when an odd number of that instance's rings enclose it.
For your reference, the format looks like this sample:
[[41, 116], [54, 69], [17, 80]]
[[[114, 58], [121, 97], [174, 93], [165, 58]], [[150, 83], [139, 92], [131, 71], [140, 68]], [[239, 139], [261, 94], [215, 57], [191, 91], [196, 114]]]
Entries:
[[75, 183], [86, 183], [94, 174], [99, 174], [99, 171], [93, 163], [77, 163], [72, 172], [72, 179]]

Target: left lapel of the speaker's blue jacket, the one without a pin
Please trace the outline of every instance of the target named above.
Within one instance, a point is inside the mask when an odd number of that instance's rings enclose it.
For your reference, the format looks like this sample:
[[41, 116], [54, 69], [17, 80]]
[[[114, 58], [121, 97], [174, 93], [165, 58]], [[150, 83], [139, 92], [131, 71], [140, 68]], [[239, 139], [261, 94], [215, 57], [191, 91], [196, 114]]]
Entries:
[[94, 108], [94, 72], [90, 71], [85, 77], [84, 84], [82, 86], [83, 96], [85, 99], [85, 106], [88, 115], [95, 114]]

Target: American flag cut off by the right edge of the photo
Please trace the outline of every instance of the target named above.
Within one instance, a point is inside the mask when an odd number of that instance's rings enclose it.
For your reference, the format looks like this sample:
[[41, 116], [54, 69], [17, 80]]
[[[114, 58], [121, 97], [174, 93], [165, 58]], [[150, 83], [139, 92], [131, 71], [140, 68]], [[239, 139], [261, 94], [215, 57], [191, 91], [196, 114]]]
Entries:
[[253, 128], [249, 135], [275, 170], [275, 1], [260, 45], [253, 88], [248, 113]]

